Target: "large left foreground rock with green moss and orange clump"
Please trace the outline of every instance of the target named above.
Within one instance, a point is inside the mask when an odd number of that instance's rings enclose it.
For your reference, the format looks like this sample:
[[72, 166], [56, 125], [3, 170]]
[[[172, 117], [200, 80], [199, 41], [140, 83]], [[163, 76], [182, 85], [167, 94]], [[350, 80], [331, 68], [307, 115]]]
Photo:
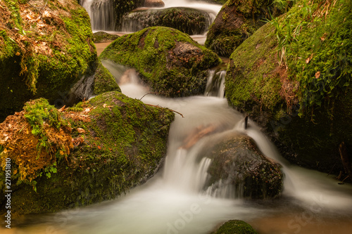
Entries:
[[126, 193], [160, 167], [173, 118], [118, 92], [61, 112], [44, 99], [27, 103], [0, 124], [1, 209], [6, 158], [11, 214], [58, 212]]

